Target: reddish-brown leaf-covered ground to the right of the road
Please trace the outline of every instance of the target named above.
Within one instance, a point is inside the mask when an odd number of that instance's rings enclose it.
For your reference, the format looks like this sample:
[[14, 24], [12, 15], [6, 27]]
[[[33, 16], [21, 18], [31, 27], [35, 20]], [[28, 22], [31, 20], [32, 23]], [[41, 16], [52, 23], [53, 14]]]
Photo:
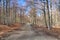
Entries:
[[48, 28], [43, 26], [38, 26], [38, 25], [34, 25], [34, 26], [38, 31], [43, 31], [50, 36], [60, 38], [60, 28], [52, 28], [51, 30], [48, 30]]

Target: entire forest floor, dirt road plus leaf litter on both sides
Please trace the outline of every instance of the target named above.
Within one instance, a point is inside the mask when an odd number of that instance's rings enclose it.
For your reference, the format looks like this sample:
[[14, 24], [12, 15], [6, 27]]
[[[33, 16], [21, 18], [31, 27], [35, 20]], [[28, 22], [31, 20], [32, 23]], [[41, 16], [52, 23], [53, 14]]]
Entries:
[[48, 30], [45, 27], [37, 26], [36, 30], [39, 33], [31, 28], [30, 25], [17, 23], [11, 26], [0, 25], [0, 40], [58, 40], [60, 38], [60, 28]]

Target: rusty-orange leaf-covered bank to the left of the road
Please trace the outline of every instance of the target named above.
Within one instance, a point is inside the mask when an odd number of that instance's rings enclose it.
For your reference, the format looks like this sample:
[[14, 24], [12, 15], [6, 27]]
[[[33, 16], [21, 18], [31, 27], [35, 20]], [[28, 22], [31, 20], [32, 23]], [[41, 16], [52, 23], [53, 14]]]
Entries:
[[10, 26], [0, 25], [0, 37], [2, 37], [7, 32], [11, 32], [13, 30], [20, 29], [20, 27], [22, 27], [22, 24], [20, 24], [20, 23], [15, 23]]

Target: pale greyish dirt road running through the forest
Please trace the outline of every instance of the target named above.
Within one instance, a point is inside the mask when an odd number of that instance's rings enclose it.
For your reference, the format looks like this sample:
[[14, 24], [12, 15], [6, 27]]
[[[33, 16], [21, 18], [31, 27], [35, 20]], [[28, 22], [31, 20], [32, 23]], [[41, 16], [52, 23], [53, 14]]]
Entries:
[[[27, 28], [28, 25], [26, 26]], [[1, 40], [58, 40], [52, 36], [46, 35], [44, 32], [40, 32], [40, 34], [36, 34], [32, 30], [28, 31], [14, 31], [9, 33], [9, 36], [2, 38]]]

